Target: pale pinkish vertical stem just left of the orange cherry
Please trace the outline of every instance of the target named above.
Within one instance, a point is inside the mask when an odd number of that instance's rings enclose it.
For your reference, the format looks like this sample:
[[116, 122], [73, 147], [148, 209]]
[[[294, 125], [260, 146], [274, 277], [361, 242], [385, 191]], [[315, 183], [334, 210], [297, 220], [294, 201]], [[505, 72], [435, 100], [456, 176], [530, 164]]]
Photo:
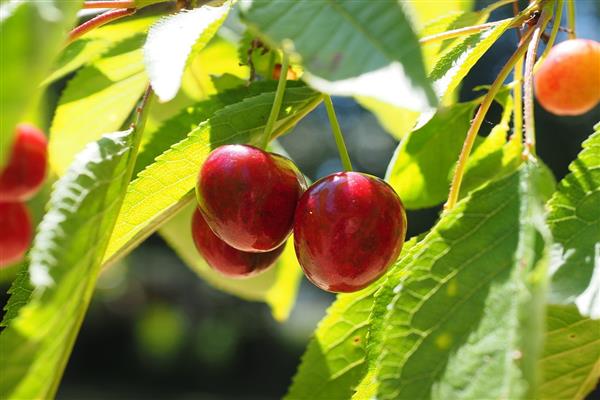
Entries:
[[550, 14], [545, 10], [535, 25], [533, 38], [529, 42], [525, 56], [525, 81], [524, 81], [524, 117], [525, 117], [525, 155], [535, 155], [535, 118], [533, 113], [533, 67], [540, 38], [546, 25], [550, 21]]

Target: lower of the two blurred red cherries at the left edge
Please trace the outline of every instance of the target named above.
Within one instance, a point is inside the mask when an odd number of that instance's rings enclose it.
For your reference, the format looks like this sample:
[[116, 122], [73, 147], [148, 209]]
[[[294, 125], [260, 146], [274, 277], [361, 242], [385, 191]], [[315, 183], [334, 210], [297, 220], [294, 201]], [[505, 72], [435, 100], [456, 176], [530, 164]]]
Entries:
[[20, 261], [31, 242], [31, 218], [23, 203], [0, 202], [0, 267]]

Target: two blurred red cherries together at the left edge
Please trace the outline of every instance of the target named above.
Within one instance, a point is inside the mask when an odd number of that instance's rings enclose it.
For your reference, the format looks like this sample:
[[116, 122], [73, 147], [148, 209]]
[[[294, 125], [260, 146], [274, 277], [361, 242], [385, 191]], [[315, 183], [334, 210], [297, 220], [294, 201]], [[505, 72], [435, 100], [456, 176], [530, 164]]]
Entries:
[[31, 217], [25, 201], [46, 177], [48, 142], [35, 126], [20, 124], [8, 164], [0, 172], [0, 267], [20, 261], [31, 243]]

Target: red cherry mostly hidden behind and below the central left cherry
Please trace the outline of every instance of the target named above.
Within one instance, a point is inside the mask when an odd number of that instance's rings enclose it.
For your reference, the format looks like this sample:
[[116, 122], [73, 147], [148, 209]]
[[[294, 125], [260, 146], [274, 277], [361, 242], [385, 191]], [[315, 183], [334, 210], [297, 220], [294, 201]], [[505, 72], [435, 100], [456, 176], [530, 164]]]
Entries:
[[192, 217], [192, 237], [196, 249], [215, 271], [230, 278], [247, 278], [271, 266], [285, 248], [285, 243], [273, 251], [249, 253], [234, 249], [214, 234], [198, 209]]

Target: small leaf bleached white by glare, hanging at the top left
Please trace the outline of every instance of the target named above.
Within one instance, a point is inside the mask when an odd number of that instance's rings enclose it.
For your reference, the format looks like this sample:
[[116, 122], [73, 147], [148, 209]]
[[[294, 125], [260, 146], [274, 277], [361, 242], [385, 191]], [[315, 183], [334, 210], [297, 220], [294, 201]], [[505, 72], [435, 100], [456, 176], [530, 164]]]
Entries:
[[172, 100], [191, 56], [215, 35], [231, 8], [203, 6], [158, 20], [148, 32], [144, 60], [150, 83], [161, 101]]

